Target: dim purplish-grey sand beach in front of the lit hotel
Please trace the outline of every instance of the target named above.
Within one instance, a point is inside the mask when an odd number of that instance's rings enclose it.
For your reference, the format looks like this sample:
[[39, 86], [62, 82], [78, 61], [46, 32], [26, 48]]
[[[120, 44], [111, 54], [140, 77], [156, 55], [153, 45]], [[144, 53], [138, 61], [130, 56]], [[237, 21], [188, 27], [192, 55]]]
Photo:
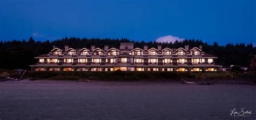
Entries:
[[[233, 108], [252, 115], [230, 116]], [[0, 119], [256, 119], [256, 86], [1, 82]]]

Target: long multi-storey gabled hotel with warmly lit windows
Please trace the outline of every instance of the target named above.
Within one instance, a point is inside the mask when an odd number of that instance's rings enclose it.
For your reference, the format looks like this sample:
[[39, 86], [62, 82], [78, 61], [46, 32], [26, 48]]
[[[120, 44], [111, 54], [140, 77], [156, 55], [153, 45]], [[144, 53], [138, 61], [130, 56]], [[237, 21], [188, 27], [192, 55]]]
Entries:
[[134, 48], [133, 43], [120, 43], [120, 48], [53, 49], [35, 57], [33, 71], [220, 71], [214, 63], [217, 57], [199, 48]]

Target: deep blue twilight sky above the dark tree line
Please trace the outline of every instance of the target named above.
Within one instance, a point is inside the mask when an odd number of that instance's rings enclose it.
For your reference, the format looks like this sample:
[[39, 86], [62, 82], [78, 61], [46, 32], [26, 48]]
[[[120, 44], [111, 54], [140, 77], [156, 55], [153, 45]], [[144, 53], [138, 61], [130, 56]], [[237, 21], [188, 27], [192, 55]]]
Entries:
[[[167, 35], [256, 44], [255, 0], [0, 0], [0, 40], [153, 41]], [[166, 37], [163, 37], [166, 36]]]

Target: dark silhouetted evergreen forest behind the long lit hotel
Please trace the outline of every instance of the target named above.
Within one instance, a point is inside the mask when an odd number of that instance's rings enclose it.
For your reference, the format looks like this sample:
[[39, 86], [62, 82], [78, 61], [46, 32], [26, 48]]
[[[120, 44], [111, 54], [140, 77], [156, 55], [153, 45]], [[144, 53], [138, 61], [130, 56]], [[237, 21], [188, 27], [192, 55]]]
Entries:
[[145, 42], [145, 41], [131, 41], [128, 39], [80, 39], [80, 38], [63, 38], [53, 41], [35, 41], [33, 38], [29, 40], [12, 40], [0, 42], [0, 68], [1, 69], [28, 69], [29, 65], [35, 64], [37, 59], [34, 57], [41, 54], [48, 54], [52, 46], [64, 48], [68, 45], [72, 48], [90, 48], [95, 45], [99, 48], [109, 47], [119, 48], [121, 42], [134, 42], [134, 47], [143, 48], [144, 45], [157, 48], [161, 45], [162, 48], [179, 48], [188, 44], [191, 47], [203, 46], [203, 51], [208, 54], [217, 56], [215, 63], [229, 66], [244, 65], [248, 66], [250, 60], [256, 54], [256, 47], [252, 44], [232, 44], [228, 43], [225, 46], [219, 46], [217, 42], [207, 44], [201, 40], [184, 40], [182, 42], [174, 43], [158, 43], [158, 42]]

